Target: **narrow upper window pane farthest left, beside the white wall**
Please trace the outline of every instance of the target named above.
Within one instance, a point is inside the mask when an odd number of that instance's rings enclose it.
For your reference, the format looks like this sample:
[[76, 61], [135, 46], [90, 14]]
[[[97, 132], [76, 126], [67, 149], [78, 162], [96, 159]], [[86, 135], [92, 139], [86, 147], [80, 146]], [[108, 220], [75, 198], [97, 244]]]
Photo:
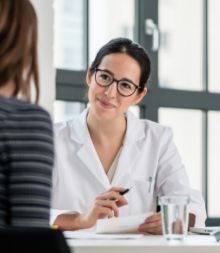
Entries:
[[57, 68], [72, 70], [86, 68], [84, 12], [83, 0], [74, 0], [74, 4], [72, 0], [54, 1], [54, 60]]

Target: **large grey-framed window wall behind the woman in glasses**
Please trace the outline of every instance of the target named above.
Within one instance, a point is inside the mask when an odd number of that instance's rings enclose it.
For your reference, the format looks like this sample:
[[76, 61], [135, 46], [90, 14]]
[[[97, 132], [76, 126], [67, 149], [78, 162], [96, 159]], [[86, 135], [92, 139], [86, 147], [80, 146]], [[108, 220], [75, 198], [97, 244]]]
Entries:
[[173, 128], [191, 184], [205, 198], [207, 224], [220, 225], [214, 190], [220, 162], [220, 1], [55, 0], [54, 8], [55, 115], [63, 110], [69, 117], [85, 108], [86, 69], [101, 45], [116, 36], [136, 40], [147, 49], [153, 71], [149, 93], [134, 110]]

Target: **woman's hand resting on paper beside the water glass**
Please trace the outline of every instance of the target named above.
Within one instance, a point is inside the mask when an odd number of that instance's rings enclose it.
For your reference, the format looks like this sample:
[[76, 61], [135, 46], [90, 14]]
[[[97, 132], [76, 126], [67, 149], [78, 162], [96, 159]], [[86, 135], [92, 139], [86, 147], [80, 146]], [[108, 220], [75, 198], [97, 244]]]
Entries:
[[154, 213], [151, 216], [147, 217], [144, 223], [142, 223], [138, 231], [141, 233], [147, 233], [152, 235], [161, 235], [162, 234], [162, 220], [161, 213]]

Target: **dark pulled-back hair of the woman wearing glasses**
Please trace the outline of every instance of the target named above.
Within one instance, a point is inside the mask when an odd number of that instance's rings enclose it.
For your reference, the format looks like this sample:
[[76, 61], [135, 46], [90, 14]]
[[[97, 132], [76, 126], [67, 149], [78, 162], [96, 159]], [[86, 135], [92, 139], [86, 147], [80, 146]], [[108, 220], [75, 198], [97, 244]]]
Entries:
[[140, 91], [144, 90], [145, 84], [147, 83], [150, 71], [151, 63], [147, 52], [139, 44], [133, 42], [127, 38], [116, 38], [110, 40], [105, 44], [97, 53], [95, 60], [92, 62], [90, 71], [94, 72], [95, 68], [101, 64], [102, 59], [109, 54], [124, 53], [132, 57], [140, 66]]

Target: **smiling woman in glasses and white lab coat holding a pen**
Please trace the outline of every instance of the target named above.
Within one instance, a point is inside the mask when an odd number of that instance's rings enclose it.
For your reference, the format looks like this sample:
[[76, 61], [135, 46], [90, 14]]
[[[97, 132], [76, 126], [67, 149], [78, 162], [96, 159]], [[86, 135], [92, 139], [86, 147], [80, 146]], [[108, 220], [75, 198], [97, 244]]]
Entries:
[[[61, 229], [89, 228], [100, 218], [153, 212], [139, 231], [161, 234], [157, 197], [191, 195], [171, 130], [128, 110], [147, 94], [150, 68], [140, 45], [126, 38], [111, 40], [87, 72], [90, 107], [56, 126], [52, 208], [61, 210], [54, 221]], [[122, 196], [126, 188], [131, 189]], [[204, 219], [200, 201], [191, 197], [193, 226]]]

